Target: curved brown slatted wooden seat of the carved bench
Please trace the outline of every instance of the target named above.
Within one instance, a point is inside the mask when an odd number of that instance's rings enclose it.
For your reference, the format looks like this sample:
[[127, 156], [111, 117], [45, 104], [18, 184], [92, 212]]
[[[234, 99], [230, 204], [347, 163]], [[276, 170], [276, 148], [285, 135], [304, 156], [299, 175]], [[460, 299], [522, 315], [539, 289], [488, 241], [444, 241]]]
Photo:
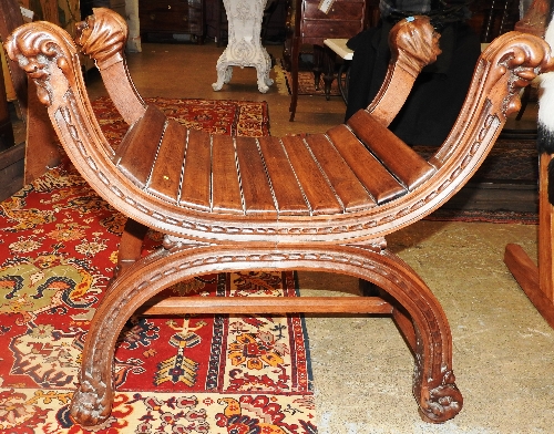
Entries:
[[167, 121], [151, 105], [113, 163], [144, 194], [171, 205], [274, 218], [361, 211], [435, 173], [367, 112], [348, 126], [306, 138], [212, 137]]

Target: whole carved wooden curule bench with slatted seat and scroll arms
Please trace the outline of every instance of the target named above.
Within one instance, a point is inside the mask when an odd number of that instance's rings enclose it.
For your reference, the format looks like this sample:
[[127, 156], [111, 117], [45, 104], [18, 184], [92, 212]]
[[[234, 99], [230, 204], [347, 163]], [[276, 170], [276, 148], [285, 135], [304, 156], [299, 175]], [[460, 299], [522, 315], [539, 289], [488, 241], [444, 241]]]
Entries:
[[[76, 42], [95, 59], [131, 125], [114, 149], [103, 136], [69, 35], [48, 22], [17, 29], [8, 55], [38, 84], [39, 99], [82, 176], [130, 217], [114, 279], [88, 334], [71, 413], [94, 425], [111, 412], [113, 356], [125, 321], [145, 313], [359, 312], [391, 316], [414, 354], [413, 394], [422, 417], [444, 422], [463, 399], [452, 371], [445, 314], [421, 278], [387, 250], [386, 236], [440, 207], [473, 175], [499, 136], [519, 92], [554, 69], [540, 38], [509, 33], [485, 50], [460, 117], [428, 161], [387, 125], [439, 37], [424, 17], [391, 32], [392, 61], [381, 91], [347, 125], [310, 136], [209, 135], [145, 106], [123, 55], [125, 23], [98, 9]], [[186, 152], [186, 154], [185, 154]], [[163, 247], [141, 258], [147, 228]], [[237, 270], [316, 270], [350, 275], [384, 297], [253, 298], [156, 294], [183, 279]]]

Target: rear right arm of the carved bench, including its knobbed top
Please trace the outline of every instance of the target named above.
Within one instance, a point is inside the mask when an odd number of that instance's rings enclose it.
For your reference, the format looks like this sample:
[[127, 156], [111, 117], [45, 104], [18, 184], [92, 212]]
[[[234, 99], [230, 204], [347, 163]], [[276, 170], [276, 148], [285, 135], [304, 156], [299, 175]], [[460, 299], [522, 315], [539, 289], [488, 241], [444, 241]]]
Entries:
[[402, 108], [421, 70], [441, 53], [438, 33], [428, 17], [409, 17], [389, 32], [391, 60], [381, 89], [367, 111], [388, 126]]

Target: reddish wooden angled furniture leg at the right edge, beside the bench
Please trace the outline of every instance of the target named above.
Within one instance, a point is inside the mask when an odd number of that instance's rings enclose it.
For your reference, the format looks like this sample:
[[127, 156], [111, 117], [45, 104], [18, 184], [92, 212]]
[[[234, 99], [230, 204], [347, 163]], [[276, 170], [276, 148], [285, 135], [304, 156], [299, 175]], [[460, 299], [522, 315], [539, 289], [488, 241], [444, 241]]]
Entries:
[[554, 207], [548, 199], [548, 189], [551, 188], [548, 172], [552, 169], [553, 162], [553, 154], [541, 154], [538, 168], [538, 266], [531, 260], [521, 246], [510, 244], [504, 252], [504, 264], [552, 328], [554, 328]]

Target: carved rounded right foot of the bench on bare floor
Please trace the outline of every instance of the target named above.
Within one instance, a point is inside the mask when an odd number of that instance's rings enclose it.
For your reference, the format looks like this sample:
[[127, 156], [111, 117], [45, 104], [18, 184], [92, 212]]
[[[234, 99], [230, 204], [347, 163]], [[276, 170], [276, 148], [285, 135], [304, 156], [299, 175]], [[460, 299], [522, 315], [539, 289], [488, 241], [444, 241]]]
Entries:
[[420, 414], [423, 421], [442, 423], [454, 417], [463, 406], [463, 397], [455, 385], [452, 371], [444, 374], [442, 384], [423, 391]]

